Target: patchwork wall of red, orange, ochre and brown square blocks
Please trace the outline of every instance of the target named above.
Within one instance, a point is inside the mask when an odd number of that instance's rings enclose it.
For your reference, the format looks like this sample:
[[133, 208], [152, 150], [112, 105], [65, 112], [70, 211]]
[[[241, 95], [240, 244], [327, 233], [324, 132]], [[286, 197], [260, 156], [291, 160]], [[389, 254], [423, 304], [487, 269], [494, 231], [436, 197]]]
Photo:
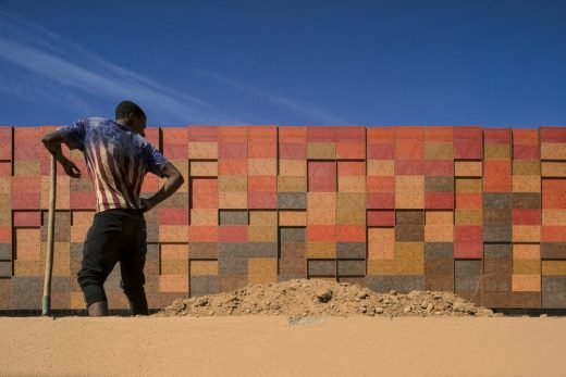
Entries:
[[[0, 310], [40, 307], [54, 127], [0, 127]], [[566, 307], [566, 127], [192, 126], [147, 129], [185, 184], [146, 214], [151, 307], [292, 278]], [[83, 172], [81, 152], [67, 151]], [[148, 175], [142, 191], [162, 181]], [[53, 309], [95, 214], [58, 171]], [[127, 309], [120, 266], [107, 284]]]

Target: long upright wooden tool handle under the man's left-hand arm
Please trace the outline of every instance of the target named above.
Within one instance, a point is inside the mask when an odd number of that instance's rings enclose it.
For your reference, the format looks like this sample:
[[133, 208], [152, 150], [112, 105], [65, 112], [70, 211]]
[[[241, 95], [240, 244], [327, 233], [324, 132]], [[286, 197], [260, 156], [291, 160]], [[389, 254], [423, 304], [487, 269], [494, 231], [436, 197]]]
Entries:
[[57, 161], [51, 155], [51, 187], [49, 190], [49, 223], [47, 226], [47, 260], [46, 276], [44, 280], [44, 300], [41, 302], [41, 315], [51, 314], [51, 275], [53, 273], [53, 244], [54, 219], [57, 196]]

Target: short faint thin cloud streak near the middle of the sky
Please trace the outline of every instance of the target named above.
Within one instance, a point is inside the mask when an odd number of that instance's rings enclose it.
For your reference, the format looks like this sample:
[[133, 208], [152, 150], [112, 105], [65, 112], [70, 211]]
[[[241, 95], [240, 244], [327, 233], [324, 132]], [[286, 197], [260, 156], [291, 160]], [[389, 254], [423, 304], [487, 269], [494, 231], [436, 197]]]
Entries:
[[303, 114], [303, 115], [306, 115], [306, 116], [312, 118], [313, 121], [322, 122], [325, 124], [347, 124], [347, 122], [345, 122], [344, 120], [342, 120], [337, 116], [334, 116], [324, 110], [317, 109], [316, 106], [313, 106], [310, 103], [307, 103], [300, 99], [287, 98], [287, 97], [274, 95], [267, 90], [260, 89], [260, 88], [251, 86], [251, 85], [246, 85], [246, 84], [236, 81], [230, 77], [222, 76], [222, 75], [213, 73], [213, 72], [197, 70], [197, 71], [195, 71], [195, 73], [197, 73], [201, 76], [213, 78], [216, 80], [224, 83], [233, 88], [245, 91], [245, 92], [253, 95], [255, 97], [258, 97], [260, 99], [263, 99], [269, 102], [275, 103], [278, 105], [282, 105], [284, 108], [291, 109], [298, 114]]

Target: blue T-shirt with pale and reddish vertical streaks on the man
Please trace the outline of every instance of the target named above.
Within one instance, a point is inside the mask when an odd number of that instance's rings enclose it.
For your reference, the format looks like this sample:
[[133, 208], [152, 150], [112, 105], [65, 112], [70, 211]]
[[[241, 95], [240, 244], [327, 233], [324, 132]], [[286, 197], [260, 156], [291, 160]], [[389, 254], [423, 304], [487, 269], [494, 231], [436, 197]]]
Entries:
[[85, 155], [97, 212], [140, 209], [144, 176], [148, 172], [161, 176], [168, 163], [140, 135], [112, 120], [81, 118], [59, 131], [70, 149], [78, 149]]

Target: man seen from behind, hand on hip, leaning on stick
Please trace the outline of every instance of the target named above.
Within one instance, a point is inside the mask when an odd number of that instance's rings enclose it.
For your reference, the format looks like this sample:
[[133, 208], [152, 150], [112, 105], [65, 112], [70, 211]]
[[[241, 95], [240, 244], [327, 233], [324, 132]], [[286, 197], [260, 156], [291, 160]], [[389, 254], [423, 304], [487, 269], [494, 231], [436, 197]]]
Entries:
[[[143, 138], [145, 128], [144, 111], [134, 102], [123, 101], [116, 106], [115, 121], [82, 118], [41, 140], [73, 178], [79, 177], [81, 172], [61, 153], [61, 143], [81, 150], [95, 189], [97, 213], [86, 236], [77, 274], [90, 316], [108, 315], [103, 284], [118, 262], [122, 274], [120, 286], [132, 314], [148, 314], [144, 290], [147, 252], [144, 212], [175, 192], [183, 185], [183, 176]], [[167, 181], [150, 198], [139, 198], [148, 172], [167, 177]]]

